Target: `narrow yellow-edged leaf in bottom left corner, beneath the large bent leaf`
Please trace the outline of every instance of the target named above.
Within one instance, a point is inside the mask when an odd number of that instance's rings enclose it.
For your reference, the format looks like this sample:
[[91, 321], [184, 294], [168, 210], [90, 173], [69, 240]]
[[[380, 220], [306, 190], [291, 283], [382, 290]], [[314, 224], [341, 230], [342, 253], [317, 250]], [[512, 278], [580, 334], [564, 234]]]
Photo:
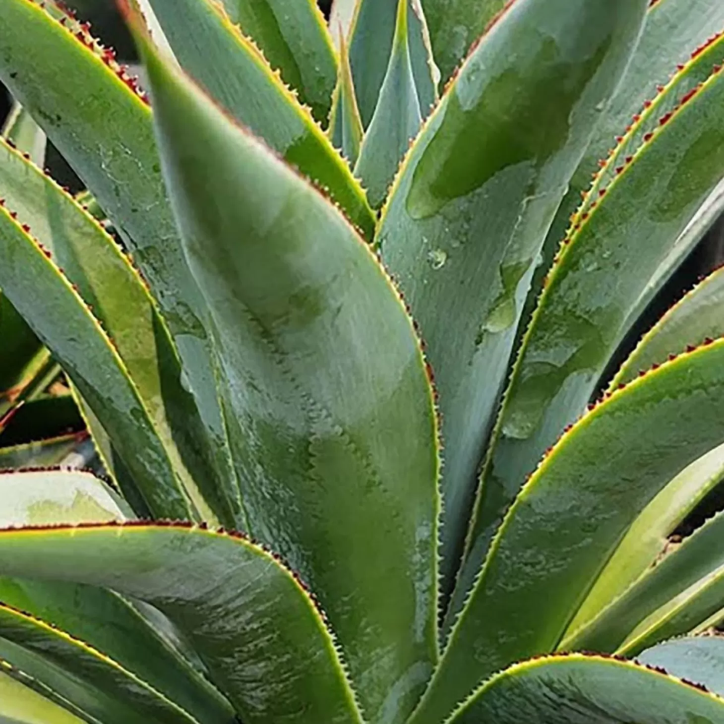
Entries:
[[[198, 724], [177, 704], [83, 641], [0, 604], [0, 656], [107, 724]], [[230, 719], [229, 719], [230, 721]]]

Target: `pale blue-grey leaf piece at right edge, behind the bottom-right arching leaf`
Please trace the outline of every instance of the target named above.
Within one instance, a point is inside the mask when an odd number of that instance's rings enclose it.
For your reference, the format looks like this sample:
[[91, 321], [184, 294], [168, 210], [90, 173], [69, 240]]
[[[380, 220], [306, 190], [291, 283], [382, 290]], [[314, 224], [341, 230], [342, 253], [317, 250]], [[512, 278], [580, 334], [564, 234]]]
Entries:
[[636, 661], [663, 668], [678, 678], [724, 696], [724, 639], [719, 636], [688, 636], [665, 641], [639, 654]]

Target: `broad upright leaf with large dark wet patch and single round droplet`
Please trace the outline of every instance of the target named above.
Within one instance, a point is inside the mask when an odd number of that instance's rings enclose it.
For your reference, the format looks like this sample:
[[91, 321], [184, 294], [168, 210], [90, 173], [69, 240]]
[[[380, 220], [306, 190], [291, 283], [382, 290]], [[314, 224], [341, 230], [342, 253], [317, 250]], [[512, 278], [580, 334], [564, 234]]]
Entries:
[[440, 392], [448, 590], [542, 230], [644, 15], [644, 1], [617, 1], [620, 12], [604, 0], [513, 4], [418, 136], [382, 214], [382, 257]]

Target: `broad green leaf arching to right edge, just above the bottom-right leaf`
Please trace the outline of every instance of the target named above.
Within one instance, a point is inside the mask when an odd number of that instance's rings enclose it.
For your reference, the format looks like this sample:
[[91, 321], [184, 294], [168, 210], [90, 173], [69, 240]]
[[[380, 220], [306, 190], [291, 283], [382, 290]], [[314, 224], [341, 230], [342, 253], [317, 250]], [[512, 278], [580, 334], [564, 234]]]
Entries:
[[494, 539], [421, 721], [445, 715], [494, 671], [557, 647], [639, 513], [724, 442], [722, 404], [724, 340], [614, 392], [560, 439]]

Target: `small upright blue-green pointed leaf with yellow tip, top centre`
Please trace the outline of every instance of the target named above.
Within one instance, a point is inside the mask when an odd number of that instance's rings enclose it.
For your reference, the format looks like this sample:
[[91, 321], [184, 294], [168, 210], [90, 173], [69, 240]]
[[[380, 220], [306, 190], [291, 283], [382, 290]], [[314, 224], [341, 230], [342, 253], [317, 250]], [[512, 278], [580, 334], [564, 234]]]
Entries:
[[408, 0], [397, 2], [397, 25], [387, 74], [365, 134], [355, 175], [374, 208], [382, 206], [410, 142], [422, 124], [408, 45]]

